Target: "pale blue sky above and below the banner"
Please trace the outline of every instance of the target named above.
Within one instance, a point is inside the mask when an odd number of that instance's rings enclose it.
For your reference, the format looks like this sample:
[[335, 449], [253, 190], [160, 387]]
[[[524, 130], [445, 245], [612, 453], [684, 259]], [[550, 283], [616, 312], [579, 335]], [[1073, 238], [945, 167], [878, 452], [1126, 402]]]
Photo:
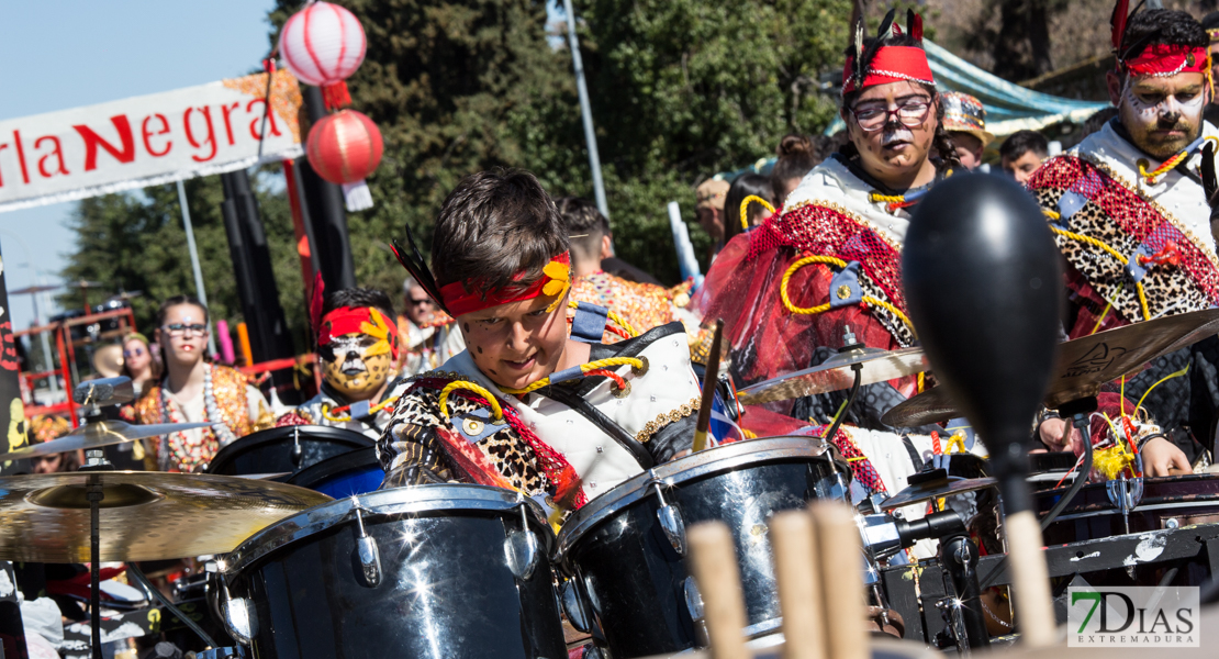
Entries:
[[[272, 0], [110, 0], [0, 6], [0, 118], [190, 86], [249, 72], [266, 56]], [[9, 290], [59, 281], [74, 203], [0, 213]], [[183, 247], [183, 258], [187, 258]], [[13, 326], [29, 296], [9, 300]], [[48, 313], [44, 311], [43, 317]]]

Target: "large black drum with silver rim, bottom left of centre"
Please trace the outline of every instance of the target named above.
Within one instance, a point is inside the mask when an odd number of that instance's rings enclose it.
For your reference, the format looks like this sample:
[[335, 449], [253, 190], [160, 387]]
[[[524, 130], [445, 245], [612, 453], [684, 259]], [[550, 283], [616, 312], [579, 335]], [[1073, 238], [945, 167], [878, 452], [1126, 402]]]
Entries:
[[219, 609], [265, 659], [567, 655], [541, 508], [478, 485], [317, 506], [224, 558]]

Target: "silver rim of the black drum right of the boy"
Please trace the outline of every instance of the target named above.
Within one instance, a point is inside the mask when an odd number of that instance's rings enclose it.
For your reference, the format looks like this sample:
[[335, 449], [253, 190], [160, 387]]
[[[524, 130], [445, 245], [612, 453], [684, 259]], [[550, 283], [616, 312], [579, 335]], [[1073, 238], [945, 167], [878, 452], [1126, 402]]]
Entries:
[[[572, 547], [585, 534], [605, 521], [611, 512], [625, 508], [650, 496], [647, 490], [653, 480], [666, 486], [674, 486], [694, 479], [727, 471], [746, 463], [773, 462], [785, 458], [819, 458], [829, 451], [830, 445], [823, 442], [819, 437], [785, 435], [780, 437], [758, 437], [756, 440], [717, 446], [716, 448], [708, 448], [656, 465], [649, 471], [624, 480], [608, 492], [586, 503], [568, 518], [556, 542], [556, 563], [564, 562]], [[850, 474], [850, 471], [846, 473]]]

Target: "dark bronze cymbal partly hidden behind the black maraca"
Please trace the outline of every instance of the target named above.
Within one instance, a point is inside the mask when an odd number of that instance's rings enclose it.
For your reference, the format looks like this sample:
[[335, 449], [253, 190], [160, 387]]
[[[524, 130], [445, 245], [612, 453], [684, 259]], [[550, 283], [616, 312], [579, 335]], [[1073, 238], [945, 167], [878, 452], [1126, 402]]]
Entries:
[[[1043, 400], [1046, 407], [1096, 396], [1101, 386], [1137, 373], [1157, 357], [1219, 333], [1219, 309], [1196, 311], [1125, 325], [1058, 346], [1058, 363]], [[894, 428], [940, 423], [962, 413], [945, 387], [903, 401], [880, 420]]]

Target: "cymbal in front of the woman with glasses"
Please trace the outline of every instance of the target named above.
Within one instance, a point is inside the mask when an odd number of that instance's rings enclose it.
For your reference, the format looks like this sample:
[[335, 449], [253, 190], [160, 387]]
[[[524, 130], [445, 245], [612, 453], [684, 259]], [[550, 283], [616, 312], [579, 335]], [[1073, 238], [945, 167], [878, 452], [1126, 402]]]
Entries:
[[861, 386], [914, 375], [930, 368], [920, 348], [855, 348], [840, 352], [817, 367], [747, 386], [737, 395], [742, 404], [759, 404], [851, 389], [855, 384], [852, 364], [863, 365]]

